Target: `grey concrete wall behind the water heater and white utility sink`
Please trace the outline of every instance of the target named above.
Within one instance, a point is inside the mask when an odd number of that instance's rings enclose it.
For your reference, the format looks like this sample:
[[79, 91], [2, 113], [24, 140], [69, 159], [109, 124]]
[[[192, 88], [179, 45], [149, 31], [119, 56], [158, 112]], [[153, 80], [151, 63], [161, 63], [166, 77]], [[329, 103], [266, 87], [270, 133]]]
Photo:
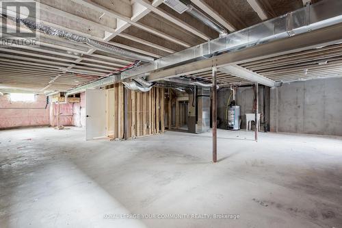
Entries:
[[[230, 88], [223, 88], [218, 91], [218, 119], [220, 120], [221, 129], [227, 129], [226, 127], [226, 107], [229, 95], [231, 94]], [[265, 87], [265, 113], [264, 110], [264, 87], [259, 86], [259, 113], [265, 115], [265, 121], [269, 122], [269, 88]], [[236, 101], [237, 105], [241, 106], [241, 129], [246, 129], [246, 116], [245, 114], [253, 112], [254, 88], [240, 87], [237, 89]], [[233, 95], [231, 97], [233, 101]], [[261, 118], [263, 123], [263, 118]]]

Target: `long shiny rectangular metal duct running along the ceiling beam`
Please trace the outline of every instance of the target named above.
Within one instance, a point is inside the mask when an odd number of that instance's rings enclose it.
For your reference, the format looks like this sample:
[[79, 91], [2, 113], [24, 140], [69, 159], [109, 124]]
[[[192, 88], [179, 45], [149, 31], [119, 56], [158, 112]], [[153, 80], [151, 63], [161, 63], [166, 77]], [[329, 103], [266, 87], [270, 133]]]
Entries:
[[212, 55], [220, 55], [226, 51], [246, 49], [339, 23], [342, 23], [342, 1], [320, 1], [272, 20], [235, 31], [227, 36], [167, 55], [150, 64], [143, 64], [125, 71], [121, 74], [121, 79], [146, 76], [150, 72], [166, 67], [185, 64], [185, 62], [208, 58]]

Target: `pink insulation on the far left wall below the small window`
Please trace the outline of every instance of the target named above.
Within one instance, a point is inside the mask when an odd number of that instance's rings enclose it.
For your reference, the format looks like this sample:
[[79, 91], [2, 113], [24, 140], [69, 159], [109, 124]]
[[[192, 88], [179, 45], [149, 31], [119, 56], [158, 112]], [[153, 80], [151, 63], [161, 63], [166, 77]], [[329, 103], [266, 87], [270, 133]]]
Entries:
[[49, 125], [47, 97], [37, 95], [34, 102], [11, 102], [9, 95], [0, 97], [0, 129], [37, 125]]

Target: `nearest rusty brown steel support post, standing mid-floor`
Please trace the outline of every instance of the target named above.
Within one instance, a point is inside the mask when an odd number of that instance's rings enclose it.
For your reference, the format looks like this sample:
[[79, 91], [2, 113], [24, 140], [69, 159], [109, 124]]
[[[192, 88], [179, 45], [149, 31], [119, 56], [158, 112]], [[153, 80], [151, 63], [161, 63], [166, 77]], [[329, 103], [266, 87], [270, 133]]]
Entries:
[[212, 88], [212, 101], [211, 101], [211, 109], [212, 109], [212, 118], [213, 118], [213, 162], [218, 162], [218, 112], [216, 110], [217, 106], [217, 81], [216, 76], [218, 73], [218, 69], [213, 67], [213, 88]]

